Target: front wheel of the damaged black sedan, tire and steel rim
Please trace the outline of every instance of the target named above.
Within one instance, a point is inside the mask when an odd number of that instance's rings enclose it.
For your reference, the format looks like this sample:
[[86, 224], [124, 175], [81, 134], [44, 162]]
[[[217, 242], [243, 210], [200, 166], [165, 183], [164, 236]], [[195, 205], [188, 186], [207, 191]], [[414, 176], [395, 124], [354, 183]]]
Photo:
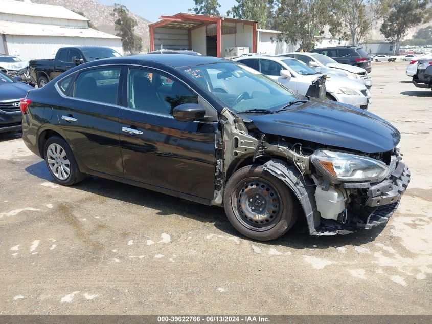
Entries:
[[237, 170], [226, 183], [223, 201], [230, 223], [254, 240], [275, 240], [297, 220], [289, 188], [262, 165]]

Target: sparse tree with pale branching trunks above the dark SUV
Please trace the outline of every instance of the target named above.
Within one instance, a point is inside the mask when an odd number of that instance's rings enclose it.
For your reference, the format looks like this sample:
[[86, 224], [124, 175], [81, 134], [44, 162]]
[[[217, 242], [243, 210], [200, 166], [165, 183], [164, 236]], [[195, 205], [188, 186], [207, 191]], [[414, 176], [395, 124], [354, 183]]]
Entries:
[[386, 0], [339, 0], [335, 6], [337, 19], [332, 32], [354, 46], [364, 40], [374, 23], [388, 12]]

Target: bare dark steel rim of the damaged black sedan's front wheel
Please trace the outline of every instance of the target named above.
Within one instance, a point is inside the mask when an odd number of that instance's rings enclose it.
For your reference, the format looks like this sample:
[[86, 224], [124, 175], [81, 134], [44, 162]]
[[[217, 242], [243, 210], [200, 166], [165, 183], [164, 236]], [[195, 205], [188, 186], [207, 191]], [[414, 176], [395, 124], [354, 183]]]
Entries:
[[239, 212], [236, 216], [239, 216], [239, 222], [247, 228], [267, 230], [275, 226], [280, 219], [279, 193], [265, 181], [257, 179], [243, 185], [239, 184], [236, 195], [231, 199], [237, 200]]

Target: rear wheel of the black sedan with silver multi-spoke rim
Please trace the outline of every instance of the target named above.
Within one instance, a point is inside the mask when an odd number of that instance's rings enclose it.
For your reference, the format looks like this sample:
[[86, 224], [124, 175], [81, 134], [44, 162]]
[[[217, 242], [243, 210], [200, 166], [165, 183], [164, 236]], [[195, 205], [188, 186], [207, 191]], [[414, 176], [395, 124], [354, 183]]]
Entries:
[[78, 168], [71, 148], [61, 137], [50, 137], [44, 145], [43, 152], [48, 170], [55, 182], [71, 186], [85, 178]]

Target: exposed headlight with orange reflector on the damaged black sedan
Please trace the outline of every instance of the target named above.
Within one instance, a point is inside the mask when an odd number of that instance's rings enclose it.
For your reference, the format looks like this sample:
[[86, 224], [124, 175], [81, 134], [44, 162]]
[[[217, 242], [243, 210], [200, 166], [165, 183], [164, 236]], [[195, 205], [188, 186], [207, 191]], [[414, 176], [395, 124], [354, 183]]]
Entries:
[[313, 165], [332, 182], [367, 181], [384, 178], [390, 171], [383, 162], [360, 155], [317, 149], [311, 156]]

